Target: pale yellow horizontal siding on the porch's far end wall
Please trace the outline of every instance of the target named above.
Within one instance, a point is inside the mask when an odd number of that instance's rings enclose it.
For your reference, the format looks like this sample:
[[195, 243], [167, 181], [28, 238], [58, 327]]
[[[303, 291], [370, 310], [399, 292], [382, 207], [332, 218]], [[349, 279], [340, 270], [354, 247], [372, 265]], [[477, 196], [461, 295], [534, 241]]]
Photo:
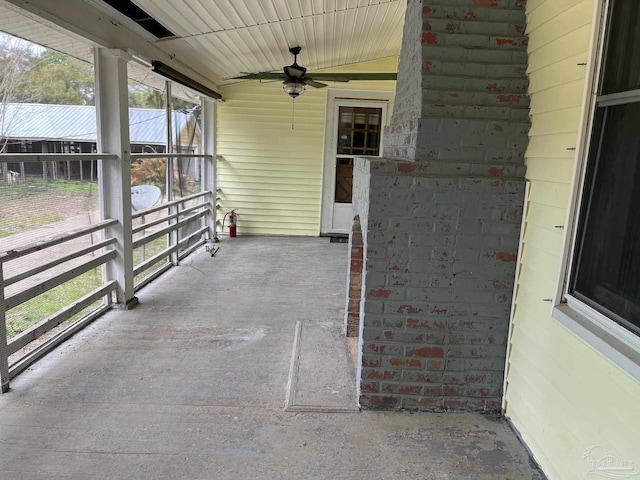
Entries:
[[[395, 72], [397, 58], [335, 69]], [[331, 70], [326, 70], [331, 71]], [[238, 209], [239, 235], [318, 235], [327, 91], [393, 91], [393, 81], [307, 88], [294, 103], [280, 82], [222, 88], [217, 107], [218, 220]], [[294, 128], [292, 129], [292, 120]], [[226, 232], [226, 229], [225, 229]]]

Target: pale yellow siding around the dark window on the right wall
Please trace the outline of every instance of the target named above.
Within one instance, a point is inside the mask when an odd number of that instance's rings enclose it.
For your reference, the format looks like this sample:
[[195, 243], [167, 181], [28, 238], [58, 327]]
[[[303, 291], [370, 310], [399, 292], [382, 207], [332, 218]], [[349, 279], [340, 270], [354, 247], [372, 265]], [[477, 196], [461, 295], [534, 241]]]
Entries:
[[529, 0], [531, 182], [506, 415], [550, 480], [587, 478], [596, 446], [640, 470], [640, 384], [550, 316], [578, 141], [594, 0]]

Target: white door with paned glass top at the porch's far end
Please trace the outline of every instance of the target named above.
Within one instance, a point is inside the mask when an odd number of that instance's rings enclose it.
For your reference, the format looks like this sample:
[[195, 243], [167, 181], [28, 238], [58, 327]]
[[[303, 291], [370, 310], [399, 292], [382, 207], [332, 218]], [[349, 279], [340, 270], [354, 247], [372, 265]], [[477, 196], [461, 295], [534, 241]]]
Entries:
[[391, 92], [329, 92], [321, 234], [351, 230], [353, 160], [381, 156], [382, 131], [392, 98]]

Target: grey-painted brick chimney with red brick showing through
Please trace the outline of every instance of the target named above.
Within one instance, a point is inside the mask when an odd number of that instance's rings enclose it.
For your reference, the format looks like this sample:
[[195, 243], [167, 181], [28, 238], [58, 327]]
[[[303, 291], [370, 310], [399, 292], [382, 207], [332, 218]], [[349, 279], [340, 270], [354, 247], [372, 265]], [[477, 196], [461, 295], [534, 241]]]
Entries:
[[409, 0], [383, 159], [356, 159], [365, 408], [499, 411], [529, 129], [524, 0]]

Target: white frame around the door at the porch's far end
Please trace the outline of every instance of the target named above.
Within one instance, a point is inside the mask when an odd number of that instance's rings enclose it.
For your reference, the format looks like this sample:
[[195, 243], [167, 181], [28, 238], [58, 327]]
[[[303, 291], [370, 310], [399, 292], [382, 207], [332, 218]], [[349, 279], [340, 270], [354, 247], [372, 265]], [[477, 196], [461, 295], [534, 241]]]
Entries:
[[[338, 142], [338, 113], [340, 107], [382, 108], [380, 125], [380, 153], [384, 148], [384, 129], [389, 125], [393, 110], [393, 90], [341, 90], [327, 92], [326, 123], [324, 130], [324, 153], [322, 159], [322, 202], [320, 207], [320, 235], [348, 234], [349, 229], [333, 228], [333, 205], [336, 181], [336, 145]], [[348, 204], [345, 204], [348, 205]]]

